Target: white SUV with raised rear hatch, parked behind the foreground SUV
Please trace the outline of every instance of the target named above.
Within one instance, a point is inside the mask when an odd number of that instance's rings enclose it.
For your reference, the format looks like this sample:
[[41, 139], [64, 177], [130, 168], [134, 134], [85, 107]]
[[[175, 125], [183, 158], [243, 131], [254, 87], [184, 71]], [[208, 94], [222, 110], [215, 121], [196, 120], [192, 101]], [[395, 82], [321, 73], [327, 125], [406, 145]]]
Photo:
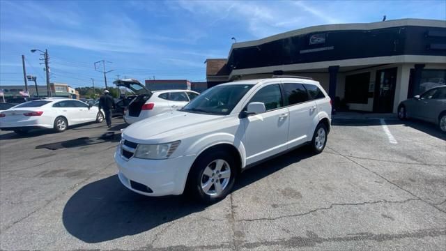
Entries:
[[124, 121], [129, 124], [180, 109], [199, 96], [199, 93], [190, 90], [150, 91], [136, 79], [120, 79], [114, 84], [137, 94], [137, 98], [134, 98], [124, 111]]

